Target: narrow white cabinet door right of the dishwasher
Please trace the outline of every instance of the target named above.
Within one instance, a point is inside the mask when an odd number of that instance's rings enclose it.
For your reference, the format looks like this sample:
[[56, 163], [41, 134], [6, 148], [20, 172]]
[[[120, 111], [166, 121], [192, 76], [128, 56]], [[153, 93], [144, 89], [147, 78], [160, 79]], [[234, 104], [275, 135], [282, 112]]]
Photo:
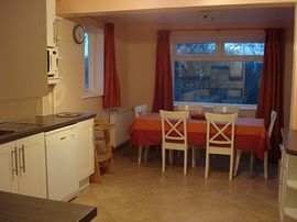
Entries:
[[77, 123], [78, 177], [79, 180], [94, 174], [94, 119]]

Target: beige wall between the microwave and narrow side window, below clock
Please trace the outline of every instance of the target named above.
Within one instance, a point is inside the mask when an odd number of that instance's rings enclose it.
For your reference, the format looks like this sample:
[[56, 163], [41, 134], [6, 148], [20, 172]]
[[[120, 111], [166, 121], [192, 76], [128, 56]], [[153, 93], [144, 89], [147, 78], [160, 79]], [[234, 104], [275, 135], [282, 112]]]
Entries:
[[58, 35], [62, 41], [61, 47], [59, 75], [61, 84], [53, 90], [54, 112], [91, 112], [99, 118], [106, 118], [102, 110], [102, 97], [84, 99], [84, 44], [78, 45], [73, 40], [73, 29], [76, 23], [63, 20], [58, 23]]

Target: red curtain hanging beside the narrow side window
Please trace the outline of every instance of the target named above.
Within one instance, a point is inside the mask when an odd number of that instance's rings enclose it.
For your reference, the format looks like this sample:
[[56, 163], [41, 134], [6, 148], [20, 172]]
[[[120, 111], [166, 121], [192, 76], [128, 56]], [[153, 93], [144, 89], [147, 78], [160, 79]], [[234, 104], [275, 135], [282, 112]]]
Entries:
[[121, 106], [120, 84], [116, 67], [113, 24], [105, 25], [105, 96], [103, 108]]

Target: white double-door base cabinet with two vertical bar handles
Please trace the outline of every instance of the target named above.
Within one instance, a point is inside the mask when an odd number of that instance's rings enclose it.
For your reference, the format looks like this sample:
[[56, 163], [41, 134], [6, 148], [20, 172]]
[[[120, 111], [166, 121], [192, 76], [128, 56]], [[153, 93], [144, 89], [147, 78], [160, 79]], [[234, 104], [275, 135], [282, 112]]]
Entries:
[[0, 190], [46, 198], [44, 133], [0, 145]]

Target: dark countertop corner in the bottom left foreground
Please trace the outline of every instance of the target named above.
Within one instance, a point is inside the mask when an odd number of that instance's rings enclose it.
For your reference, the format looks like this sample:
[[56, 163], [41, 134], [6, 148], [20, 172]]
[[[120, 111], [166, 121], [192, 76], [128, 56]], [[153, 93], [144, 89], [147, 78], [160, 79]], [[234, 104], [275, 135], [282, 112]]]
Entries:
[[87, 222], [96, 215], [96, 207], [0, 191], [0, 221]]

